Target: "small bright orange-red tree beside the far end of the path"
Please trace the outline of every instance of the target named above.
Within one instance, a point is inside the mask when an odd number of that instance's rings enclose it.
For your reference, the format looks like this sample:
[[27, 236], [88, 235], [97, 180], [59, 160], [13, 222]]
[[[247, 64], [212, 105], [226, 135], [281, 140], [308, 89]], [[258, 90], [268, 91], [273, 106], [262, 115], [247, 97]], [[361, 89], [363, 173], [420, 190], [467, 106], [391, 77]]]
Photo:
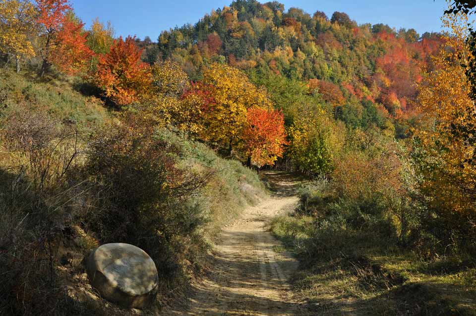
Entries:
[[279, 110], [251, 107], [247, 113], [247, 125], [242, 133], [243, 151], [251, 163], [273, 165], [282, 157], [286, 142], [284, 115]]

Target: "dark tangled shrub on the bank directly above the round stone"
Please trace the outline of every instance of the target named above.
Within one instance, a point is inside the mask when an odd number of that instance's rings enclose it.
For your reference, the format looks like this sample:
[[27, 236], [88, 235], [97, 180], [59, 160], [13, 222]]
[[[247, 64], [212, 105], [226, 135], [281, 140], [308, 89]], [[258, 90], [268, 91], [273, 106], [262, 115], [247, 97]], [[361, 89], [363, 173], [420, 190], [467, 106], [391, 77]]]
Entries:
[[144, 249], [159, 275], [170, 279], [183, 276], [182, 261], [204, 247], [198, 235], [204, 210], [193, 196], [211, 176], [179, 168], [179, 155], [175, 144], [150, 129], [112, 124], [93, 136], [82, 171], [97, 200], [96, 208], [83, 214], [89, 230], [101, 243]]

